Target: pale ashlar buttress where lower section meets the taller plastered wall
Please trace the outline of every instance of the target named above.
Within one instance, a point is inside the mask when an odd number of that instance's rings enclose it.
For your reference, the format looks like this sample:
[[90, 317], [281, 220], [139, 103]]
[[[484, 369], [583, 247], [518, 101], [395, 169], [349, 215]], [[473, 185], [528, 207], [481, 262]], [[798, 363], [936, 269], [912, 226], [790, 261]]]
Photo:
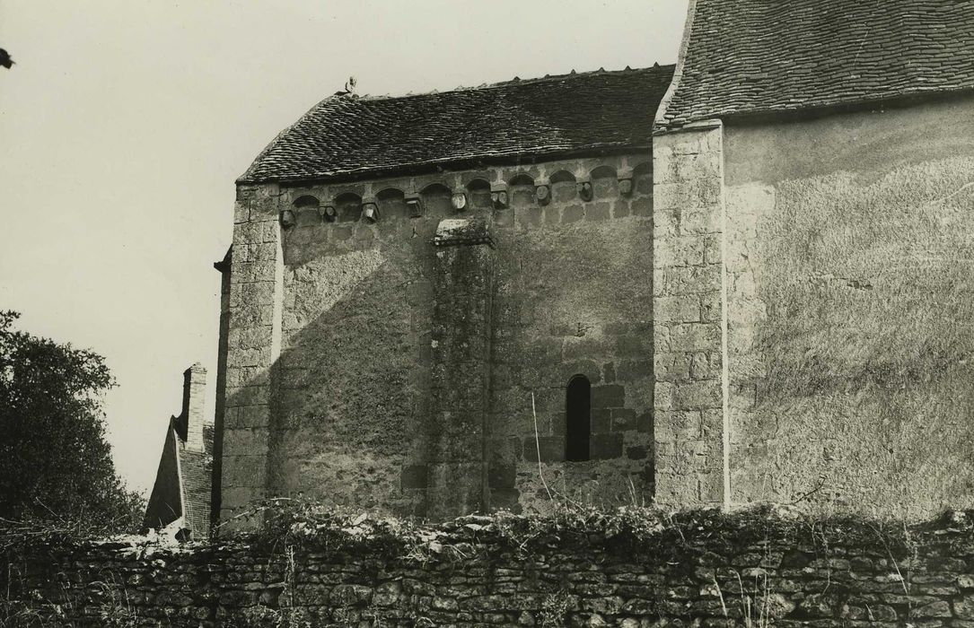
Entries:
[[656, 497], [724, 500], [723, 129], [654, 138]]

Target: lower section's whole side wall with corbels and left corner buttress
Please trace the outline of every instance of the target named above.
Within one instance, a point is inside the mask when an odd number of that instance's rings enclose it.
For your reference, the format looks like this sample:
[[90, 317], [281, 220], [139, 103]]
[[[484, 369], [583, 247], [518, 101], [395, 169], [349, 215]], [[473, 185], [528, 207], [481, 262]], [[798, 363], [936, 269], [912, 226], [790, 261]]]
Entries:
[[[538, 186], [549, 196], [539, 200]], [[506, 206], [492, 201], [492, 189], [506, 193]], [[458, 191], [468, 203], [459, 213], [451, 204]], [[412, 199], [419, 216], [406, 203]], [[369, 203], [375, 223], [359, 213]], [[334, 221], [323, 217], [325, 206], [335, 208]], [[291, 213], [281, 227], [284, 209]], [[480, 387], [483, 374], [465, 366], [472, 358], [463, 343], [437, 354], [434, 341], [459, 342], [456, 329], [478, 312], [490, 314], [488, 388], [479, 404], [488, 415], [489, 506], [520, 510], [547, 500], [539, 449], [556, 491], [651, 499], [651, 211], [649, 155], [241, 187], [223, 517], [252, 499], [295, 494], [419, 515], [468, 510], [469, 491], [444, 496], [449, 478], [430, 464], [443, 462], [450, 445], [436, 377], [445, 369], [449, 388]], [[465, 215], [491, 223], [494, 247], [476, 244], [489, 253], [470, 263], [475, 273], [490, 266], [493, 278], [476, 303], [451, 304], [437, 286], [456, 284], [454, 271], [437, 262], [431, 240], [442, 219]], [[564, 394], [576, 374], [593, 387], [593, 461], [566, 463]], [[449, 507], [431, 507], [431, 499]]]

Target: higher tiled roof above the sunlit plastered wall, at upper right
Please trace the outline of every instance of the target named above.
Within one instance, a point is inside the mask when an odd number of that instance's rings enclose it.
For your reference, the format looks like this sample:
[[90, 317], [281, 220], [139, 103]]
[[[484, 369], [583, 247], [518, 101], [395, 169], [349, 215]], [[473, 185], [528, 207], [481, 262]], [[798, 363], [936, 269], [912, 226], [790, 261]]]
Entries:
[[969, 90], [974, 2], [695, 0], [685, 46], [661, 127]]

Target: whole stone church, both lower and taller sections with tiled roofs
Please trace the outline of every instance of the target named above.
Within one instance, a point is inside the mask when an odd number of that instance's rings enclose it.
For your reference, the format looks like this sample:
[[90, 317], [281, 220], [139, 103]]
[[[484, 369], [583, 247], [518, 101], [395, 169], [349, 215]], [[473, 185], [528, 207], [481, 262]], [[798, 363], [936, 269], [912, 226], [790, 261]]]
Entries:
[[214, 518], [974, 505], [972, 37], [693, 0], [675, 67], [325, 98], [237, 181]]

